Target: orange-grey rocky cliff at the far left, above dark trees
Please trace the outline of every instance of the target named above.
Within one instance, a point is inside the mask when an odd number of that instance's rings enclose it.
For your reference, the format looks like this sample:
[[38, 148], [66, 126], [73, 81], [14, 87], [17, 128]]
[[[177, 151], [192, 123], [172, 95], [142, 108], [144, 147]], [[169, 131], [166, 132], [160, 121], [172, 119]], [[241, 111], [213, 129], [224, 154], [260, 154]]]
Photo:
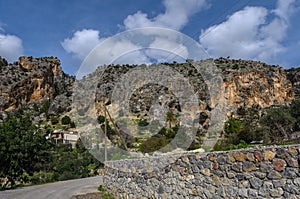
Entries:
[[[71, 96], [73, 82], [74, 78], [62, 71], [56, 58], [20, 57], [14, 64], [1, 66], [0, 108], [11, 111], [30, 103]], [[61, 109], [59, 106], [52, 107]]]

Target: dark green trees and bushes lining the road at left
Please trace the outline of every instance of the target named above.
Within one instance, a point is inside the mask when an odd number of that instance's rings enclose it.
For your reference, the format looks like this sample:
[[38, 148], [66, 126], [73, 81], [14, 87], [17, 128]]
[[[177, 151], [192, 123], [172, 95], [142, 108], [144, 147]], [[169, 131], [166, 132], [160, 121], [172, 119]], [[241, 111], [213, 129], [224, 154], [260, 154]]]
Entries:
[[37, 127], [23, 110], [0, 123], [0, 178], [7, 178], [0, 189], [95, 175], [101, 164], [80, 139], [72, 149], [46, 140], [48, 133], [49, 126]]

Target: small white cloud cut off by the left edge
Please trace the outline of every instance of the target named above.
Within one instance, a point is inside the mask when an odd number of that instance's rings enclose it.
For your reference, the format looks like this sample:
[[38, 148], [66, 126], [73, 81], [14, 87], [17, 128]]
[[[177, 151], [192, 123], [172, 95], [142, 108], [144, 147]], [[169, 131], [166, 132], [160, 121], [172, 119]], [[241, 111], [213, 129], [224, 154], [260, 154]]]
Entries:
[[0, 34], [0, 56], [8, 62], [16, 61], [23, 54], [22, 40], [9, 34]]

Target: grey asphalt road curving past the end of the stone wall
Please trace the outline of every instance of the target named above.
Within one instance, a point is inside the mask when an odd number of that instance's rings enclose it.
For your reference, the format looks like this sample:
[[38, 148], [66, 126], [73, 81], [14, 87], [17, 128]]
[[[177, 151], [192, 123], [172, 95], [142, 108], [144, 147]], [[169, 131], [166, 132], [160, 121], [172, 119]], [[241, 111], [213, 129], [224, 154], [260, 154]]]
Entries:
[[73, 195], [97, 192], [102, 176], [0, 191], [0, 199], [70, 199]]

